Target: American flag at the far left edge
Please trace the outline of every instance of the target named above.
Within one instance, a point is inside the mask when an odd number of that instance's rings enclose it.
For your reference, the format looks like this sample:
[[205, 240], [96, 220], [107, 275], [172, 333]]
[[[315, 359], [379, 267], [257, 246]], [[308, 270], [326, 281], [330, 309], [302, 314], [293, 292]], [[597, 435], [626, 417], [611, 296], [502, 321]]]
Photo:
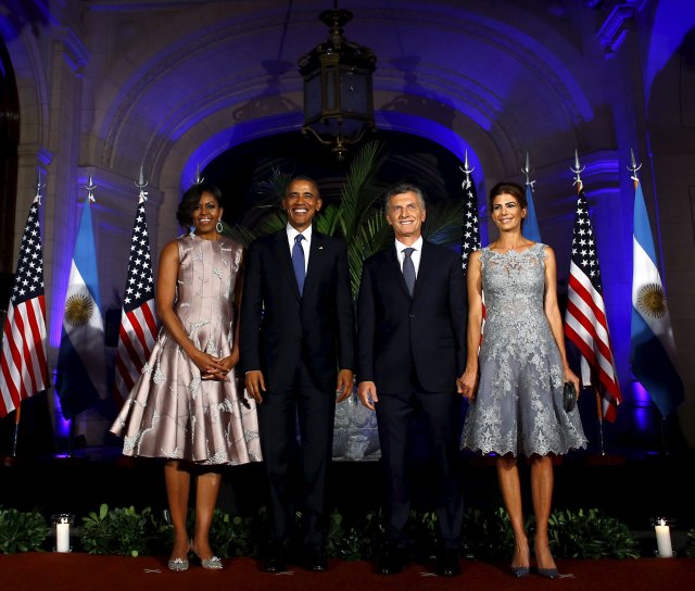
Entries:
[[43, 254], [39, 226], [40, 194], [34, 198], [22, 236], [20, 259], [4, 320], [0, 355], [0, 416], [49, 387], [46, 363]]

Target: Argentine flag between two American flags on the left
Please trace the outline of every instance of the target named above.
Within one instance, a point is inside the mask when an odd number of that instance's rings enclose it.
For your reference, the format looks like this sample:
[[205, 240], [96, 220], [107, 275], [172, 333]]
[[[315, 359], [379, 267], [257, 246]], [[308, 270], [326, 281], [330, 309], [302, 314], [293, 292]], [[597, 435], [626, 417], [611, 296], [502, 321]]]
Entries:
[[65, 418], [106, 398], [105, 359], [90, 194], [79, 221], [58, 353], [55, 389]]

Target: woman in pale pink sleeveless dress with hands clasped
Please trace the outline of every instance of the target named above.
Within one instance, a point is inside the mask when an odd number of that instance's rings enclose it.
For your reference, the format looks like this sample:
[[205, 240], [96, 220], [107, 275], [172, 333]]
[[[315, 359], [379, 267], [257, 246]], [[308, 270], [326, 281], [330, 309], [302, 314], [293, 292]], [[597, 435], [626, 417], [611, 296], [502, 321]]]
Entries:
[[[208, 541], [223, 465], [261, 460], [255, 403], [237, 392], [239, 361], [235, 310], [240, 298], [242, 247], [220, 234], [219, 190], [191, 187], [177, 212], [192, 231], [160, 255], [156, 313], [162, 329], [150, 360], [112, 427], [123, 453], [163, 457], [174, 526], [172, 570], [188, 568], [188, 553], [219, 569]], [[238, 280], [239, 279], [239, 280]], [[186, 529], [191, 479], [195, 527]]]

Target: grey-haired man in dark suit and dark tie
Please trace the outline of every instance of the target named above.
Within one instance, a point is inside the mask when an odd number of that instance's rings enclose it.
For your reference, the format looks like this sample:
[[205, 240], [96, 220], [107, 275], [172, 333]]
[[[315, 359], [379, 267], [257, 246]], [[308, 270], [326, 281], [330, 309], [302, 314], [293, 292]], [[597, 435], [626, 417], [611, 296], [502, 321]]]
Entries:
[[407, 448], [413, 418], [427, 426], [435, 479], [438, 573], [460, 573], [463, 500], [458, 480], [460, 397], [466, 363], [467, 298], [460, 257], [427, 242], [422, 191], [401, 184], [387, 193], [395, 244], [367, 259], [357, 301], [357, 380], [362, 403], [377, 413], [386, 476], [383, 575], [406, 564], [410, 512]]

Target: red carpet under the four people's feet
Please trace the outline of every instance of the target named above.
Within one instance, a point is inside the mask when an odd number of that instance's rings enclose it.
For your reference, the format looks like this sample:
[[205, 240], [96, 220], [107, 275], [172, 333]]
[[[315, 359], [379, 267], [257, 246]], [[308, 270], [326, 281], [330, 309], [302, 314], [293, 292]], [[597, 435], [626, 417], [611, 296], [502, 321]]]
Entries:
[[463, 575], [433, 576], [413, 565], [401, 575], [383, 577], [365, 562], [331, 561], [327, 573], [268, 575], [251, 558], [224, 561], [222, 571], [191, 565], [186, 573], [169, 573], [164, 558], [92, 556], [88, 554], [24, 553], [0, 555], [2, 589], [8, 591], [658, 591], [695, 588], [695, 558], [626, 561], [559, 561], [555, 580], [529, 575], [514, 579], [502, 564], [464, 559]]

